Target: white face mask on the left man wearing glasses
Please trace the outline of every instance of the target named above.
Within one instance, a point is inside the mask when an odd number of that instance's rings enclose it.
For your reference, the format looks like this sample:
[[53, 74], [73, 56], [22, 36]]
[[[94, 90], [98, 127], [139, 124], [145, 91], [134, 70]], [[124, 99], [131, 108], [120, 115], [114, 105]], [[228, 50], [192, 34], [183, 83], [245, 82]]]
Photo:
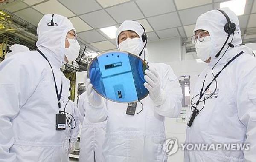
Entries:
[[80, 45], [77, 42], [77, 40], [74, 40], [71, 38], [67, 38], [67, 40], [70, 46], [69, 48], [65, 48], [64, 54], [67, 57], [68, 62], [72, 62], [72, 61], [75, 61], [79, 55]]

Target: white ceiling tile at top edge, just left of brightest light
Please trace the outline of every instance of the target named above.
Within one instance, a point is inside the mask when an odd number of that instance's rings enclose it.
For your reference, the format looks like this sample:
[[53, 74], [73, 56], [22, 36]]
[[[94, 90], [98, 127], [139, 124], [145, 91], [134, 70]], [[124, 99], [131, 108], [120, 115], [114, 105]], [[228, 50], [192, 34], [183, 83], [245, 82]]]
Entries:
[[212, 3], [212, 0], [175, 0], [178, 10], [201, 6], [208, 3]]

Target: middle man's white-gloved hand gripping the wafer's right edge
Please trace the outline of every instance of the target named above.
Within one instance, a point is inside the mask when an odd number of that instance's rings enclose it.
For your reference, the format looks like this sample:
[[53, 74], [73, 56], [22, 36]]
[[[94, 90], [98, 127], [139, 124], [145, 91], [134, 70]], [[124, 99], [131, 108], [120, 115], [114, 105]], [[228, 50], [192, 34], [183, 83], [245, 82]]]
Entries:
[[164, 102], [164, 91], [162, 89], [162, 81], [159, 77], [155, 68], [149, 67], [148, 70], [145, 70], [144, 83], [145, 88], [149, 91], [149, 97], [153, 100], [155, 105], [162, 105]]

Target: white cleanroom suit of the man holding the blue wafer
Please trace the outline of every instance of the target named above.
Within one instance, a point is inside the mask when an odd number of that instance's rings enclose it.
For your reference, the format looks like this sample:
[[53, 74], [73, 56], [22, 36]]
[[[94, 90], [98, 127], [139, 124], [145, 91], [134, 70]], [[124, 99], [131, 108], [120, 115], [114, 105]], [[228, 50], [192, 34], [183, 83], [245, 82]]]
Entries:
[[[139, 36], [144, 33], [140, 23], [125, 21], [117, 30], [117, 39], [119, 34], [126, 30], [135, 31]], [[138, 52], [143, 50], [145, 42], [141, 40], [141, 37], [140, 42], [135, 41], [139, 43], [136, 45], [138, 50], [133, 49], [133, 51], [137, 51], [134, 54], [139, 55]], [[130, 43], [134, 44], [133, 40]], [[120, 50], [124, 51], [124, 49]], [[144, 50], [147, 56], [146, 48]], [[144, 50], [141, 56], [143, 59]], [[166, 139], [164, 118], [175, 118], [179, 115], [182, 92], [177, 77], [169, 65], [162, 63], [149, 63], [148, 65], [153, 70], [149, 69], [146, 76], [154, 75], [155, 79], [152, 79], [153, 82], [148, 82], [148, 85], [156, 86], [151, 87], [149, 95], [141, 100], [143, 111], [134, 116], [125, 113], [128, 104], [105, 101], [99, 97], [91, 89], [90, 79], [87, 80], [86, 115], [91, 122], [107, 120], [103, 145], [105, 162], [164, 162], [167, 160], [163, 151], [163, 143]], [[141, 109], [142, 105], [138, 102], [137, 112]]]

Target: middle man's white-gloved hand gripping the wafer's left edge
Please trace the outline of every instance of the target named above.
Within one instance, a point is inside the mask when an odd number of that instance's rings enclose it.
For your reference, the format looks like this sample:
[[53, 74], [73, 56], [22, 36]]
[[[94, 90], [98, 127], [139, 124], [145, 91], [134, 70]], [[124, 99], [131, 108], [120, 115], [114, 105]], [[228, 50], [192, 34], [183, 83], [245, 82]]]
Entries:
[[94, 108], [101, 108], [103, 106], [103, 99], [93, 90], [93, 85], [90, 83], [90, 79], [86, 80], [86, 94], [89, 105]]

